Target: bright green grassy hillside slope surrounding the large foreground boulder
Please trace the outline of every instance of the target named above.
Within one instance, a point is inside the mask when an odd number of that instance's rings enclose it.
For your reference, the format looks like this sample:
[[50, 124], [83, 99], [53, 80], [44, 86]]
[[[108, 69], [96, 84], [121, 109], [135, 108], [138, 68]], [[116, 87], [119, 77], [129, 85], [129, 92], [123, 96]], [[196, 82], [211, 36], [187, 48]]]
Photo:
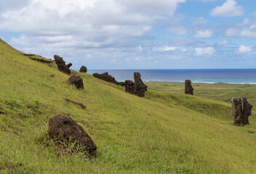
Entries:
[[[255, 123], [231, 125], [231, 104], [148, 90], [145, 98], [92, 75], [68, 75], [0, 41], [0, 173], [254, 173]], [[55, 77], [51, 78], [50, 75]], [[67, 104], [81, 102], [87, 109]], [[70, 115], [97, 144], [97, 158], [60, 154], [47, 123]]]

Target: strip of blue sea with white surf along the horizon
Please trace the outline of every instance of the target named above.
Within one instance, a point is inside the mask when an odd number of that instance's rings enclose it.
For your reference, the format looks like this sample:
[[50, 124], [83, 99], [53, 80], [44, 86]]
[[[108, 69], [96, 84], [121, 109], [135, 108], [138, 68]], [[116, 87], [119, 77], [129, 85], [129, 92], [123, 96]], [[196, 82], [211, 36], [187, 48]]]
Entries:
[[117, 81], [133, 80], [133, 72], [140, 72], [143, 81], [196, 83], [249, 83], [256, 84], [256, 69], [180, 69], [180, 70], [88, 70], [88, 73], [108, 72]]

